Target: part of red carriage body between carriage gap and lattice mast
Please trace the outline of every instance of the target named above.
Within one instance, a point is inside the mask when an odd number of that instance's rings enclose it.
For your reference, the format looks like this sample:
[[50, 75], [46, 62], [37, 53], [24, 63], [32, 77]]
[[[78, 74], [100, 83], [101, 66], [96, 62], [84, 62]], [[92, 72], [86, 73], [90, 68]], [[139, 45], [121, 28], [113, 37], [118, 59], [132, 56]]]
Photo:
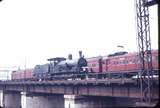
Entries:
[[107, 70], [108, 72], [135, 72], [140, 69], [139, 59], [136, 53], [109, 57]]

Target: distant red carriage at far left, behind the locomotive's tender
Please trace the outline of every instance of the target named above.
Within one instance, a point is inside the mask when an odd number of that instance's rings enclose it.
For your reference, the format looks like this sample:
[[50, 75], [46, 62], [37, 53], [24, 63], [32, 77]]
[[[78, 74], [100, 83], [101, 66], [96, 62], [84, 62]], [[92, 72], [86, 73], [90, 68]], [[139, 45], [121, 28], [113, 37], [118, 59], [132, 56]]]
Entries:
[[26, 69], [26, 70], [18, 70], [12, 72], [12, 80], [20, 80], [20, 79], [33, 79], [33, 69]]

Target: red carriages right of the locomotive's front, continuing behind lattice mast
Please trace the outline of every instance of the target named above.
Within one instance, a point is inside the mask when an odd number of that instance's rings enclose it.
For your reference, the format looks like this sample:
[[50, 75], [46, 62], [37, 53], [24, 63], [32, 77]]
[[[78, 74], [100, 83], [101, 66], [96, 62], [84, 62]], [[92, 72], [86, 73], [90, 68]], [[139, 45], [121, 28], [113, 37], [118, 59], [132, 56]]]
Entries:
[[[141, 69], [138, 53], [124, 53], [114, 56], [98, 56], [87, 59], [89, 72], [134, 73]], [[158, 69], [158, 51], [152, 51], [153, 70]]]

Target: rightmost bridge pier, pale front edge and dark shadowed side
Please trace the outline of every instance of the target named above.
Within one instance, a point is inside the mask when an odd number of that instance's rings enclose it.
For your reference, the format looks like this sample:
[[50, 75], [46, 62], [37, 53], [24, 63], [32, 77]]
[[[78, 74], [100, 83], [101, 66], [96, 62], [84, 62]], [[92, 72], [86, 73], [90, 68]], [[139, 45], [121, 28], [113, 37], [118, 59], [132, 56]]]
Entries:
[[134, 107], [129, 98], [64, 95], [65, 108]]

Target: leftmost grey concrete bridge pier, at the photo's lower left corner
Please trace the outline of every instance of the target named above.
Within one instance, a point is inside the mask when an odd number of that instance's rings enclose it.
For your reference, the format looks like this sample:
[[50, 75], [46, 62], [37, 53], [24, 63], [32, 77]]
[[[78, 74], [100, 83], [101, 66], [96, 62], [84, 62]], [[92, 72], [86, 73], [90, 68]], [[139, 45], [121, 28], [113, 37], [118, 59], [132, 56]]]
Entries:
[[13, 92], [13, 91], [3, 92], [3, 107], [4, 108], [21, 108], [20, 92]]

